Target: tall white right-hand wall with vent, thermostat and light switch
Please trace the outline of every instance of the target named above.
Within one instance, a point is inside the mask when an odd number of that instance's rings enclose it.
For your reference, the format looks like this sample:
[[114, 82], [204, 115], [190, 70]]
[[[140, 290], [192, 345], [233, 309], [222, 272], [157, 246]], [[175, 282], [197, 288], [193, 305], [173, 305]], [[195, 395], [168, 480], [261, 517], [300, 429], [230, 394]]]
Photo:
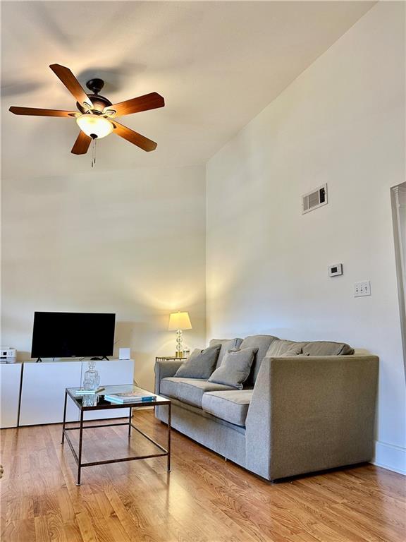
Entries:
[[[376, 462], [405, 470], [390, 186], [405, 180], [402, 3], [377, 4], [207, 164], [207, 335], [333, 339], [381, 359]], [[328, 205], [301, 215], [328, 183]], [[342, 262], [344, 275], [327, 267]], [[353, 284], [371, 280], [371, 297]]]

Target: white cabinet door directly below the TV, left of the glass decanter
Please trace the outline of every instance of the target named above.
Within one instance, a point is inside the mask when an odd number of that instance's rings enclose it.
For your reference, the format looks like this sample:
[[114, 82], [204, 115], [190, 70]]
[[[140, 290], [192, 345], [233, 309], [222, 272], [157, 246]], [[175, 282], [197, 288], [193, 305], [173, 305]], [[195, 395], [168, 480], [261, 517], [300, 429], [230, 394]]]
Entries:
[[[65, 388], [80, 385], [81, 368], [80, 361], [24, 363], [20, 426], [61, 422]], [[66, 421], [78, 419], [78, 408], [68, 401]]]

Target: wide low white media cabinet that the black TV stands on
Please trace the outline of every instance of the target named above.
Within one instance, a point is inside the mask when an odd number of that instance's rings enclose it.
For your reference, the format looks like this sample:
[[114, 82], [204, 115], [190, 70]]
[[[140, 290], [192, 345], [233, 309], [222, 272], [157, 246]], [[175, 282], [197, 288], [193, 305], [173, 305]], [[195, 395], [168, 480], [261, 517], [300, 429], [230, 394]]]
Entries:
[[[20, 403], [20, 426], [40, 423], [61, 423], [66, 387], [80, 387], [87, 370], [87, 361], [44, 361], [24, 363]], [[100, 385], [131, 384], [134, 361], [112, 359], [97, 361]], [[18, 383], [19, 385], [19, 383]], [[18, 392], [16, 394], [18, 400]], [[86, 412], [84, 419], [119, 418], [128, 416], [128, 409]], [[79, 419], [79, 409], [68, 397], [66, 421]], [[16, 426], [13, 424], [13, 426]]]

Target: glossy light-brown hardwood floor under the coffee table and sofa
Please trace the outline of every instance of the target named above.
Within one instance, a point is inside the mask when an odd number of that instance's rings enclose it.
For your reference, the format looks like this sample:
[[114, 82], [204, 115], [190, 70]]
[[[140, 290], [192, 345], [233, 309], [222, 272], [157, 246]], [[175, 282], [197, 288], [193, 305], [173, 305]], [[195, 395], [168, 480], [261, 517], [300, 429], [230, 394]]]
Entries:
[[[152, 411], [134, 421], [165, 442]], [[126, 431], [87, 430], [85, 453], [125, 455]], [[171, 474], [165, 458], [91, 466], [77, 487], [60, 425], [0, 438], [3, 542], [406, 540], [405, 478], [372, 465], [271, 484], [173, 431]]]

